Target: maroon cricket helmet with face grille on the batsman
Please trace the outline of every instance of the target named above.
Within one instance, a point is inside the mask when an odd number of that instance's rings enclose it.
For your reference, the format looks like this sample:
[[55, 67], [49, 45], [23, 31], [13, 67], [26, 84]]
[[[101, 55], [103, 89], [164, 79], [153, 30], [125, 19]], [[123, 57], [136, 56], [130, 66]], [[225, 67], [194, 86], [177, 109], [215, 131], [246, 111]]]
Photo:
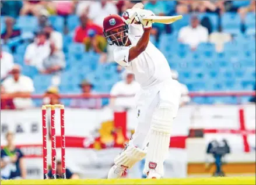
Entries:
[[[120, 28], [118, 33], [111, 33], [111, 30]], [[103, 20], [103, 33], [107, 38], [108, 44], [123, 46], [128, 39], [128, 25], [121, 16], [113, 14]]]

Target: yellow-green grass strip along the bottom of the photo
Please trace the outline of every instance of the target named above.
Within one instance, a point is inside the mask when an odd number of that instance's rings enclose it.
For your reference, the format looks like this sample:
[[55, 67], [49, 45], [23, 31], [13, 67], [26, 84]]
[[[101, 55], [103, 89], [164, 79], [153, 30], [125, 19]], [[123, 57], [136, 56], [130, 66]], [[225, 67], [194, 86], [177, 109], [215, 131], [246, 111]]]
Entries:
[[255, 177], [187, 179], [1, 180], [1, 184], [255, 184]]

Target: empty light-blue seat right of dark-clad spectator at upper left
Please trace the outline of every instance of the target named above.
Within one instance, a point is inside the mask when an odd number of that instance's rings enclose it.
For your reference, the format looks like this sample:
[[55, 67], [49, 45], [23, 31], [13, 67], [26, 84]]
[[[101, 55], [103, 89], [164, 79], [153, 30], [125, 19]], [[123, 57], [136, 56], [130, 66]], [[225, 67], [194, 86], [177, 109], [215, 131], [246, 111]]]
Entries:
[[16, 22], [17, 26], [22, 31], [36, 31], [38, 28], [37, 17], [34, 16], [19, 16]]

